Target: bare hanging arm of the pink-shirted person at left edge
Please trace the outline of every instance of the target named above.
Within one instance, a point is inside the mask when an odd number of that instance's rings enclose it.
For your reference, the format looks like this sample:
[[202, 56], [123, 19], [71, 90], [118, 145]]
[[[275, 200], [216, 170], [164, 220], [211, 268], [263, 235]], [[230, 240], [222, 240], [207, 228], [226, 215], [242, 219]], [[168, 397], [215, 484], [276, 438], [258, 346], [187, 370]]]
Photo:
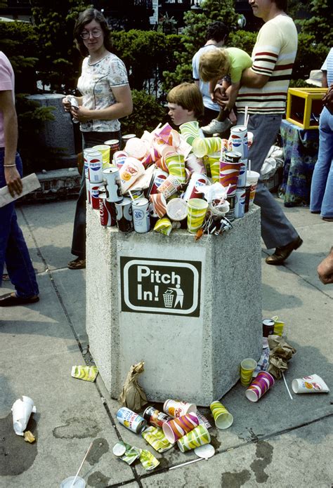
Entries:
[[11, 90], [0, 91], [0, 110], [4, 117], [5, 157], [4, 173], [12, 197], [22, 193], [22, 181], [15, 164], [18, 146], [18, 117]]

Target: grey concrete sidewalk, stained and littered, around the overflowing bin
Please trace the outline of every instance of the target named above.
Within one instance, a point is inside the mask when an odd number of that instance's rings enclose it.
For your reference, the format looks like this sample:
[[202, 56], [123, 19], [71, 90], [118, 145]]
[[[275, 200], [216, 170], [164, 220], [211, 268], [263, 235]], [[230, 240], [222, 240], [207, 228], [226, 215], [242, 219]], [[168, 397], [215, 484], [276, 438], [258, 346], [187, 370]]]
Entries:
[[[74, 364], [91, 364], [85, 271], [66, 266], [72, 258], [74, 205], [70, 200], [18, 207], [41, 301], [0, 309], [0, 487], [59, 487], [75, 475], [91, 442], [81, 470], [87, 487], [331, 487], [332, 393], [293, 394], [291, 400], [280, 380], [252, 403], [237, 383], [223, 397], [233, 426], [209, 430], [216, 455], [169, 471], [197, 459], [195, 454], [178, 449], [158, 454], [117, 423], [119, 404], [107, 396], [100, 376], [96, 383], [70, 376]], [[316, 373], [332, 390], [333, 285], [322, 285], [316, 268], [333, 244], [333, 225], [306, 208], [285, 213], [304, 244], [276, 268], [264, 263], [263, 249], [263, 317], [284, 320], [287, 341], [297, 350], [285, 375], [289, 388], [293, 378]], [[11, 289], [6, 283], [1, 294]], [[28, 425], [37, 437], [34, 444], [13, 431], [11, 407], [22, 395], [37, 406]], [[200, 410], [212, 422], [208, 409]], [[149, 449], [159, 466], [146, 472], [140, 463], [128, 466], [117, 459], [112, 447], [119, 439]]]

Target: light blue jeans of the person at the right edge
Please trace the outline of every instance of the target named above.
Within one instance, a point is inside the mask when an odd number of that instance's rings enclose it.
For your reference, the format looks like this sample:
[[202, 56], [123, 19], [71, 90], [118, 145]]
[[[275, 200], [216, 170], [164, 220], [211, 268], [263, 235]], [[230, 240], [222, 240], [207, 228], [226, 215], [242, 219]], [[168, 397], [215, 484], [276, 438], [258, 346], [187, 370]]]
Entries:
[[326, 107], [320, 114], [318, 161], [311, 182], [310, 210], [333, 218], [333, 115]]

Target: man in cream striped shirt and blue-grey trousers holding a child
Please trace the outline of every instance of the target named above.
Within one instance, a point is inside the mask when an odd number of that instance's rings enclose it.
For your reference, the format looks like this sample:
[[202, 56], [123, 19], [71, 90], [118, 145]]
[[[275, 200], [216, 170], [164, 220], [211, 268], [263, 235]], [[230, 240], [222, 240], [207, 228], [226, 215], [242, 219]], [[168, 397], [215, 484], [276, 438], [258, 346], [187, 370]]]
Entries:
[[[297, 51], [297, 32], [285, 11], [287, 0], [249, 0], [254, 15], [262, 18], [252, 52], [252, 67], [242, 74], [242, 88], [237, 97], [237, 124], [244, 124], [248, 107], [248, 130], [254, 134], [249, 159], [260, 173], [270, 146], [275, 143], [285, 113], [287, 90]], [[254, 203], [261, 207], [261, 237], [267, 249], [275, 252], [266, 263], [280, 265], [299, 248], [302, 239], [287, 220], [281, 207], [259, 180]]]

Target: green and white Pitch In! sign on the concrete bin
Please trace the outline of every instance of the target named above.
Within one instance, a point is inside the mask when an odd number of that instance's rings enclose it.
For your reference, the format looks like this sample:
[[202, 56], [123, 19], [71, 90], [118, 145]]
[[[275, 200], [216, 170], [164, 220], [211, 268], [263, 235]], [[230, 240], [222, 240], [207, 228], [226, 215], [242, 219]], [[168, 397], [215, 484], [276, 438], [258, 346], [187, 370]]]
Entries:
[[120, 257], [122, 311], [200, 315], [200, 261]]

